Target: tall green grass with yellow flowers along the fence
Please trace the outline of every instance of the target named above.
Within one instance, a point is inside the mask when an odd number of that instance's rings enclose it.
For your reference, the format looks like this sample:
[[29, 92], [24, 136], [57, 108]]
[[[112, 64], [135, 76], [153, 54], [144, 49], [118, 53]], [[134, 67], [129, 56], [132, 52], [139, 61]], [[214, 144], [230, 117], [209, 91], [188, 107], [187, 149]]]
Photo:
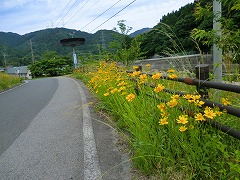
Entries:
[[[178, 76], [173, 69], [167, 74], [169, 78]], [[102, 101], [103, 108], [128, 134], [133, 165], [141, 172], [158, 174], [162, 179], [240, 177], [239, 140], [205, 123], [207, 118], [224, 119], [235, 128], [239, 118], [217, 107], [204, 107], [197, 94], [179, 96], [164, 91], [168, 88], [194, 94], [194, 87], [162, 79], [161, 73], [152, 77], [139, 71], [127, 74], [115, 63], [106, 62], [75, 75], [88, 79], [88, 87]]]

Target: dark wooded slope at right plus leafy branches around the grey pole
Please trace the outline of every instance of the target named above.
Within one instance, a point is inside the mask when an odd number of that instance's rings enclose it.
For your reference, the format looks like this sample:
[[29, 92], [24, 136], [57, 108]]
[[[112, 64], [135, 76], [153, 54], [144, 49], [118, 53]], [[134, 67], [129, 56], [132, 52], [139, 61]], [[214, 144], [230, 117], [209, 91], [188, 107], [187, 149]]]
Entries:
[[[211, 53], [212, 44], [218, 43], [224, 54], [240, 62], [240, 5], [239, 1], [222, 0], [222, 38], [214, 37], [213, 1], [201, 0], [163, 16], [153, 29], [139, 37], [141, 51], [146, 57], [155, 54]], [[195, 36], [192, 34], [195, 31]]]

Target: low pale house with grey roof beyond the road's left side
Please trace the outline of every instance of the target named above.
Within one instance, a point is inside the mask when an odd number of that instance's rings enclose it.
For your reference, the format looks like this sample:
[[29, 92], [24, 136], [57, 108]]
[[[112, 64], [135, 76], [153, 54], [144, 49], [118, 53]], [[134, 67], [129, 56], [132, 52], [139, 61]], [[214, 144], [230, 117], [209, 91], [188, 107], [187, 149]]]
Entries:
[[31, 72], [27, 66], [11, 67], [6, 69], [7, 74], [23, 77], [24, 79], [32, 79]]

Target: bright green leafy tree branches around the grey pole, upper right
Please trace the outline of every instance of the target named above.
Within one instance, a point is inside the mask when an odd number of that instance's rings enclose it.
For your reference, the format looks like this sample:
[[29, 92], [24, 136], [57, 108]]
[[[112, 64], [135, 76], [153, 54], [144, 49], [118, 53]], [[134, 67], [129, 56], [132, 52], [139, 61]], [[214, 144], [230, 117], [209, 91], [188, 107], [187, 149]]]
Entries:
[[[222, 24], [222, 37], [216, 36], [216, 33], [209, 27], [209, 17], [213, 19], [212, 1], [205, 0], [204, 3], [198, 3], [196, 6], [195, 16], [201, 21], [201, 26], [192, 31], [192, 37], [198, 42], [207, 46], [216, 43], [223, 49], [223, 60], [225, 62], [240, 62], [240, 1], [221, 0], [223, 16], [220, 19]], [[204, 22], [204, 24], [203, 24]], [[212, 25], [212, 23], [211, 23]], [[211, 26], [212, 27], [212, 26]]]

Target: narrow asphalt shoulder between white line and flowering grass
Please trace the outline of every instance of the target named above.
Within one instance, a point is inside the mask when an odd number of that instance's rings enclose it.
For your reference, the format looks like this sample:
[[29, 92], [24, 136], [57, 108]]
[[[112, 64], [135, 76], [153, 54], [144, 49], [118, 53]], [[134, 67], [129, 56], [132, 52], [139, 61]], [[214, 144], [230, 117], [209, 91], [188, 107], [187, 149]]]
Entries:
[[94, 95], [81, 81], [76, 81], [82, 87], [89, 104], [102, 179], [131, 179], [132, 174], [129, 155], [123, 152], [122, 147], [117, 145], [122, 141], [120, 135], [112, 127], [109, 119], [96, 111], [94, 104], [98, 103], [98, 100]]

